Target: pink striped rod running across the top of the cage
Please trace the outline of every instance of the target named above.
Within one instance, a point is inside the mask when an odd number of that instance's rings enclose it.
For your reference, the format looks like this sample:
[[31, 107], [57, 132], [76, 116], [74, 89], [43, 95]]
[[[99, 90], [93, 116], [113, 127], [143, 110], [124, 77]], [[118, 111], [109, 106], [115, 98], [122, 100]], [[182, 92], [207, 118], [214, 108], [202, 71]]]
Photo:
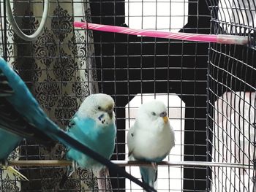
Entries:
[[165, 31], [153, 31], [143, 29], [132, 29], [119, 26], [106, 26], [94, 23], [74, 22], [75, 27], [86, 28], [96, 31], [107, 31], [120, 34], [140, 35], [144, 37], [159, 37], [165, 39], [179, 39], [184, 41], [195, 42], [217, 42], [222, 44], [236, 44], [246, 45], [248, 44], [248, 37], [236, 36], [236, 35], [213, 35], [213, 34], [189, 34], [189, 33], [173, 33]]

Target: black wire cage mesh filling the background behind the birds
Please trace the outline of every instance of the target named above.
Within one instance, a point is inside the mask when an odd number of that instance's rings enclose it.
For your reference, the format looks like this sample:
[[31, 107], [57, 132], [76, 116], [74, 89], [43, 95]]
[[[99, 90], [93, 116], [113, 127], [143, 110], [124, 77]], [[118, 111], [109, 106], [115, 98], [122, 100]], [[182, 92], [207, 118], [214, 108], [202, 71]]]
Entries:
[[[33, 32], [42, 17], [42, 1], [11, 4], [20, 28]], [[131, 28], [254, 37], [254, 1], [50, 1], [44, 31], [32, 42], [13, 33], [4, 1], [0, 5], [1, 56], [18, 70], [61, 128], [67, 126], [86, 96], [108, 93], [116, 102], [118, 128], [111, 159], [127, 160], [126, 134], [136, 110], [145, 101], [161, 99], [176, 131], [176, 147], [167, 161], [255, 165], [255, 47], [72, 27], [74, 20], [86, 20]], [[61, 145], [48, 149], [26, 140], [10, 159], [59, 159], [62, 150]], [[30, 181], [17, 180], [2, 171], [0, 191], [97, 191], [97, 180], [89, 170], [78, 170], [60, 189], [64, 167], [18, 168]], [[125, 169], [140, 178], [138, 167]], [[159, 166], [158, 191], [255, 191], [255, 174], [255, 169], [249, 168]], [[113, 191], [140, 191], [111, 170], [110, 178]]]

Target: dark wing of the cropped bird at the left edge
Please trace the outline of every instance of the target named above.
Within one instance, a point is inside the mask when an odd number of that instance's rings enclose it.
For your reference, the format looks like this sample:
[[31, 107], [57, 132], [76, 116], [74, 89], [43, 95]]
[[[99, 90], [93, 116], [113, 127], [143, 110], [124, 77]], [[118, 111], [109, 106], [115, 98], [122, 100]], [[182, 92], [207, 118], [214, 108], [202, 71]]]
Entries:
[[39, 142], [48, 144], [53, 140], [42, 131], [39, 131], [31, 123], [28, 123], [19, 112], [17, 112], [7, 97], [15, 92], [8, 84], [7, 77], [0, 69], [0, 128], [4, 128], [20, 137], [35, 138]]

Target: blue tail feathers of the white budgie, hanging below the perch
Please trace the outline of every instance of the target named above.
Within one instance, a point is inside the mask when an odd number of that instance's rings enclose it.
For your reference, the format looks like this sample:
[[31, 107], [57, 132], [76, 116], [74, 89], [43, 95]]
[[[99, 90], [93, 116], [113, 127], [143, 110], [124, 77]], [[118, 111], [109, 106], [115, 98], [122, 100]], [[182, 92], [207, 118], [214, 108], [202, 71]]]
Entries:
[[154, 188], [154, 185], [157, 182], [157, 169], [154, 169], [152, 166], [140, 166], [140, 174], [143, 183], [147, 183]]

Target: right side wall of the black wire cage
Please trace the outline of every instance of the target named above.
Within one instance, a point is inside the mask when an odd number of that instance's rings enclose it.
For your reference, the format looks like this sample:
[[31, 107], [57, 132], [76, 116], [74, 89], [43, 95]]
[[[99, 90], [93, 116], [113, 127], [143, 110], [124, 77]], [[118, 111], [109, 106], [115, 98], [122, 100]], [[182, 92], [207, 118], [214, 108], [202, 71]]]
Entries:
[[[212, 33], [254, 36], [254, 1], [208, 3]], [[209, 160], [255, 165], [255, 72], [255, 47], [210, 45]], [[255, 169], [215, 167], [210, 172], [211, 191], [255, 191]]]

